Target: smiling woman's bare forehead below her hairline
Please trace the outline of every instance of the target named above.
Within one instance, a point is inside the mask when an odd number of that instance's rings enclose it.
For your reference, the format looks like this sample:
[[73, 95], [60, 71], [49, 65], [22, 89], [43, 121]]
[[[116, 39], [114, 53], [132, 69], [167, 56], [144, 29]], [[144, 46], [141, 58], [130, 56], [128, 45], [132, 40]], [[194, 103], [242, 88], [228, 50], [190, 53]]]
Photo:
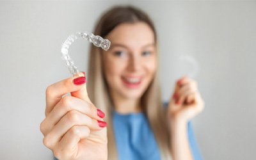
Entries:
[[155, 43], [154, 32], [145, 22], [120, 24], [109, 33], [108, 38], [111, 44], [122, 44], [131, 48]]

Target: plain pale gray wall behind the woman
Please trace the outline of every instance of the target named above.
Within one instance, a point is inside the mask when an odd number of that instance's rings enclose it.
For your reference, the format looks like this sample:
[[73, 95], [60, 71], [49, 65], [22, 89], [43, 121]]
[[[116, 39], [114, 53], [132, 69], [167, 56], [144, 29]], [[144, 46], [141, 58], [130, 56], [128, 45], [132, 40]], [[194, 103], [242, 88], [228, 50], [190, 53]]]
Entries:
[[[51, 159], [39, 125], [45, 88], [70, 76], [60, 46], [70, 33], [91, 32], [113, 4], [134, 4], [156, 23], [163, 100], [191, 68], [179, 56], [198, 62], [205, 109], [193, 126], [204, 159], [253, 159], [255, 1], [1, 1], [0, 159]], [[72, 46], [72, 58], [86, 70], [88, 42]]]

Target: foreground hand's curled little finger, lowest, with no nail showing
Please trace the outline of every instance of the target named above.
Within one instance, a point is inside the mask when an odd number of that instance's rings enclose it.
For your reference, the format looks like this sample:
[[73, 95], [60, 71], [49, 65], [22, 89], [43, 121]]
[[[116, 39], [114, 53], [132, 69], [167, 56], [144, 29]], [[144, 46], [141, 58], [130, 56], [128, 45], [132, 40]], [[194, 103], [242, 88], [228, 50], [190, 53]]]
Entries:
[[56, 145], [54, 156], [61, 159], [61, 155], [72, 155], [70, 152], [74, 151], [74, 148], [77, 147], [79, 141], [87, 138], [89, 134], [90, 129], [87, 126], [74, 125]]

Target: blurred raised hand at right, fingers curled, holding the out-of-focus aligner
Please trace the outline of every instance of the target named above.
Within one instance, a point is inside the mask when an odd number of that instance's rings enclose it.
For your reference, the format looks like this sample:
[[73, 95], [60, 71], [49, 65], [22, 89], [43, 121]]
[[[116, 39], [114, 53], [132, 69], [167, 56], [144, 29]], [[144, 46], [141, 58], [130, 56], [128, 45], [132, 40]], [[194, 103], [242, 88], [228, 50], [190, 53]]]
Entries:
[[184, 76], [175, 84], [175, 90], [169, 102], [168, 112], [173, 120], [187, 122], [204, 109], [204, 100], [198, 92], [197, 83]]

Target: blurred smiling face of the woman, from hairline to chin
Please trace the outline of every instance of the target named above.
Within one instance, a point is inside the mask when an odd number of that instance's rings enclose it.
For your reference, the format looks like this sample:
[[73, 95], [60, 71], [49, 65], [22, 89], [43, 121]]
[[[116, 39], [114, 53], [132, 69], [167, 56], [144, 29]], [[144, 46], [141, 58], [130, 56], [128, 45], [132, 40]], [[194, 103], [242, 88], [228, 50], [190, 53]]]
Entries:
[[152, 29], [145, 22], [124, 23], [107, 38], [111, 47], [103, 52], [103, 69], [111, 95], [140, 99], [157, 68]]

